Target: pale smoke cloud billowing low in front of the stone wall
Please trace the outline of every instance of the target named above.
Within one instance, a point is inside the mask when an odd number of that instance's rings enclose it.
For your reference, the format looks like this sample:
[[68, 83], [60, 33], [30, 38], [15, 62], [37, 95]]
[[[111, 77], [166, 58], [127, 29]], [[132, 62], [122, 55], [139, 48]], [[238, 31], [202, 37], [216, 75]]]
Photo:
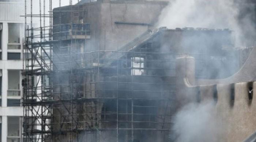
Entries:
[[218, 142], [223, 130], [214, 102], [188, 104], [176, 114], [174, 122], [170, 137], [175, 142]]

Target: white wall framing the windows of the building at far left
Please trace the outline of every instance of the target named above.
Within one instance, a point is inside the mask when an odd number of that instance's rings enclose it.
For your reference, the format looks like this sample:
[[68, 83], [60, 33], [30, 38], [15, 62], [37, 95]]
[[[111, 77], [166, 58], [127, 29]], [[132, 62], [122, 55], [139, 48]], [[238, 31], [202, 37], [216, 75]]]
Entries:
[[[24, 0], [20, 0], [20, 2], [1, 2], [0, 1], [0, 23], [3, 24], [2, 30], [2, 60], [0, 60], [0, 69], [2, 70], [2, 92], [1, 92], [1, 100], [2, 105], [0, 106], [0, 116], [2, 117], [2, 131], [1, 131], [1, 142], [7, 142], [7, 127], [8, 127], [8, 117], [22, 117], [23, 116], [23, 107], [7, 107], [7, 99], [22, 98], [22, 86], [21, 80], [22, 75], [20, 74], [20, 96], [7, 96], [8, 90], [8, 70], [22, 70], [23, 62], [21, 60], [7, 60], [8, 52], [19, 52], [22, 55], [23, 51], [23, 23], [24, 17]], [[8, 23], [20, 23], [20, 44], [21, 49], [12, 49], [8, 50]], [[20, 124], [21, 125], [21, 124]], [[20, 135], [21, 135], [21, 126], [20, 126]], [[22, 139], [20, 139], [20, 142]]]

